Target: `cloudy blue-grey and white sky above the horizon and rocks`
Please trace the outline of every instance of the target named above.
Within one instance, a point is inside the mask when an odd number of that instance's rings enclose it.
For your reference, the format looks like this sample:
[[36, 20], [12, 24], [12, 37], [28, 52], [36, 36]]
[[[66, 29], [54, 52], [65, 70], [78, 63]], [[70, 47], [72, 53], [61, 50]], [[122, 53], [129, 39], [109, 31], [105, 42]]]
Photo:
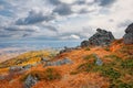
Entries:
[[133, 22], [133, 0], [0, 0], [1, 40], [83, 40], [98, 28], [116, 38]]

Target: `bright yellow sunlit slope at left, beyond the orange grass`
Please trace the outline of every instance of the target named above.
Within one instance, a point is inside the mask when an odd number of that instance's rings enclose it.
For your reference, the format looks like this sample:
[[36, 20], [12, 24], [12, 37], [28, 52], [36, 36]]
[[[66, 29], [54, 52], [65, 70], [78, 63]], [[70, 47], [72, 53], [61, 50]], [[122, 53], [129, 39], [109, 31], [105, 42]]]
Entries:
[[57, 54], [57, 51], [32, 51], [21, 54], [12, 59], [6, 61], [0, 64], [0, 68], [6, 68], [14, 65], [28, 65], [34, 64], [41, 61], [41, 58], [52, 58]]

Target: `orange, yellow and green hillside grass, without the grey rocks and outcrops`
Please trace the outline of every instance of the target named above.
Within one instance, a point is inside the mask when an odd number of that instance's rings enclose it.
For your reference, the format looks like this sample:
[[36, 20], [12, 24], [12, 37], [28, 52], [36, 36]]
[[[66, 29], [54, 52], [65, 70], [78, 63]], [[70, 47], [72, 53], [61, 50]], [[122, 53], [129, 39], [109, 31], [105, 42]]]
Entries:
[[[37, 78], [32, 88], [132, 88], [132, 53], [133, 45], [125, 45], [122, 40], [114, 41], [109, 47], [83, 47], [58, 55], [50, 55], [45, 52], [25, 53], [0, 65], [3, 65], [3, 68], [6, 65], [6, 67], [29, 65], [40, 62], [42, 56], [52, 57], [51, 62], [68, 57], [73, 63], [45, 67], [45, 62], [43, 62], [23, 73], [7, 72], [6, 78], [0, 80], [0, 87], [23, 88], [27, 78], [32, 76]], [[98, 57], [101, 64], [96, 63]], [[20, 59], [21, 64], [18, 64]]]

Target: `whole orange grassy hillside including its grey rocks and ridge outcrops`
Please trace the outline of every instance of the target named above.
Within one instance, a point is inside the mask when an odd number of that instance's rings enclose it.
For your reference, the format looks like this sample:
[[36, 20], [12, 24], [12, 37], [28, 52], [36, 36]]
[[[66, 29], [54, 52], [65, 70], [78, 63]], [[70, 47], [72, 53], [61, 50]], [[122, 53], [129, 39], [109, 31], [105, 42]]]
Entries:
[[132, 26], [121, 40], [98, 29], [81, 46], [32, 51], [6, 61], [0, 64], [0, 88], [133, 88]]

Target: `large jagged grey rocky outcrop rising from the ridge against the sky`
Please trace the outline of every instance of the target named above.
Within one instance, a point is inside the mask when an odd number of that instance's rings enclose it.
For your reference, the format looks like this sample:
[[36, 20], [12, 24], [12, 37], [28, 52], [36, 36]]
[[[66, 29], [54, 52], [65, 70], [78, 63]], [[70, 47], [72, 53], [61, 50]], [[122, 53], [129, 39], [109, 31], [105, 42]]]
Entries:
[[81, 46], [101, 46], [101, 45], [110, 45], [111, 42], [114, 41], [114, 36], [111, 32], [105, 30], [98, 29], [96, 33], [89, 38], [89, 41], [83, 41]]

